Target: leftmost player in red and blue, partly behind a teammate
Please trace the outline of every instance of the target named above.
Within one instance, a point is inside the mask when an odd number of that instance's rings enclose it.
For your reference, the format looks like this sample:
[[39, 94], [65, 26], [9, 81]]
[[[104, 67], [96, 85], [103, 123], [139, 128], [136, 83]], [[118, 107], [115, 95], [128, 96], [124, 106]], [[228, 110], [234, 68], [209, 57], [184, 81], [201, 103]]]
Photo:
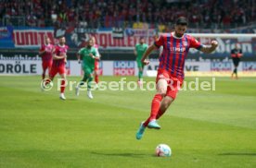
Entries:
[[50, 69], [53, 64], [53, 52], [54, 52], [54, 45], [51, 44], [50, 38], [45, 36], [45, 43], [41, 45], [39, 50], [39, 55], [42, 57], [42, 67], [43, 67], [43, 74], [42, 79], [45, 79], [45, 72], [48, 69], [48, 74], [50, 73]]

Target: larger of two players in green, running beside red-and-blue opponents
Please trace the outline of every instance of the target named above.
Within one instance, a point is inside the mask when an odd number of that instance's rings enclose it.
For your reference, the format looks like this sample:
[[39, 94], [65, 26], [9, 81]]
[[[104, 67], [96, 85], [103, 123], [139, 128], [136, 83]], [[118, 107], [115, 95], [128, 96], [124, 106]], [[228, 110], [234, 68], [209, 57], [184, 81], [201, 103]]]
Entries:
[[77, 54], [78, 62], [81, 62], [81, 56], [83, 57], [83, 79], [76, 87], [76, 95], [79, 96], [79, 89], [83, 86], [84, 82], [87, 81], [87, 96], [90, 99], [93, 99], [92, 94], [92, 81], [94, 78], [95, 70], [95, 61], [99, 59], [99, 56], [96, 52], [96, 48], [93, 47], [94, 42], [92, 39], [89, 39], [87, 46], [79, 50]]

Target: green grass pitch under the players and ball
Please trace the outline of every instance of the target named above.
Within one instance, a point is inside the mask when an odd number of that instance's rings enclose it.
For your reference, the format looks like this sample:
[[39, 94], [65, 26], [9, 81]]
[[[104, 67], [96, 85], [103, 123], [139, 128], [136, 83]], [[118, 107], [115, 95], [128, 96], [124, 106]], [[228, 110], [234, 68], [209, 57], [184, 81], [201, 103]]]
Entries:
[[[180, 91], [162, 128], [141, 140], [135, 132], [154, 91], [96, 90], [89, 100], [67, 89], [63, 102], [56, 88], [40, 90], [40, 78], [0, 77], [0, 167], [256, 167], [256, 78], [216, 78], [215, 91]], [[172, 157], [154, 156], [160, 143]]]

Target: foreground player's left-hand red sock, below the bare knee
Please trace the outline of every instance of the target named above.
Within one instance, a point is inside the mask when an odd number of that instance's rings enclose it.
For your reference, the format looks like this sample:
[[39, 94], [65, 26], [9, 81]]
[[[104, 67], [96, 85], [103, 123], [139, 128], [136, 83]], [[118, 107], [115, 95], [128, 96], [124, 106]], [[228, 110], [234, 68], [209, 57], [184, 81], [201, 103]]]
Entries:
[[156, 94], [151, 102], [151, 114], [147, 118], [147, 121], [143, 124], [144, 126], [147, 126], [148, 123], [157, 118], [157, 114], [160, 110], [160, 102], [162, 100], [162, 96], [160, 94]]

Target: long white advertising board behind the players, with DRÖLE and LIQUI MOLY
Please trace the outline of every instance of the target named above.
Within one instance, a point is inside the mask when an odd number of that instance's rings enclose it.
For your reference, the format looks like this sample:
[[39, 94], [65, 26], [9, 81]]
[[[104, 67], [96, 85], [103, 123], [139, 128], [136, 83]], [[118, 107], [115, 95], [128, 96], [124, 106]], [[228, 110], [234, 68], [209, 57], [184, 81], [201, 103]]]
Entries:
[[[147, 72], [156, 72], [158, 66], [158, 61], [151, 61], [148, 66], [145, 66], [144, 74], [148, 75]], [[68, 61], [66, 68], [67, 75], [83, 75], [82, 65], [77, 61]], [[187, 74], [195, 74], [196, 72], [226, 72], [229, 74], [233, 68], [232, 62], [186, 62], [185, 72]], [[237, 70], [245, 74], [255, 74], [256, 62], [241, 62]], [[99, 64], [99, 74], [103, 76], [137, 76], [137, 73], [138, 68], [135, 61], [101, 61]], [[41, 60], [0, 60], [0, 75], [41, 74]]]

